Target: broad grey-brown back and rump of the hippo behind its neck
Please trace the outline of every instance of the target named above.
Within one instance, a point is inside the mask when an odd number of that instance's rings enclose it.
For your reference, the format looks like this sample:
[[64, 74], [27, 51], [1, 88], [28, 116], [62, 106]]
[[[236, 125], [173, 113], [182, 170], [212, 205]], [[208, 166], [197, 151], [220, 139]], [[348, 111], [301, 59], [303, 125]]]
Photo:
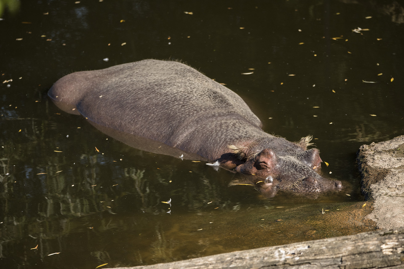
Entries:
[[240, 96], [175, 61], [142, 60], [72, 73], [48, 95], [66, 112], [171, 146], [214, 119], [230, 117], [261, 127]]

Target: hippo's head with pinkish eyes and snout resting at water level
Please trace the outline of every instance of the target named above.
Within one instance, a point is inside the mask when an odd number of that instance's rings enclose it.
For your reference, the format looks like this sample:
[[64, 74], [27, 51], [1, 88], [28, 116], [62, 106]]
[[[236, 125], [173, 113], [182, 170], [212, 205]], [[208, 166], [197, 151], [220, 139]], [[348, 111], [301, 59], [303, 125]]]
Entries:
[[341, 181], [326, 179], [318, 174], [321, 162], [316, 148], [282, 155], [265, 148], [238, 165], [236, 171], [263, 178], [258, 181], [261, 183], [261, 192], [266, 192], [269, 186], [273, 189], [274, 184], [278, 189], [299, 193], [341, 189]]

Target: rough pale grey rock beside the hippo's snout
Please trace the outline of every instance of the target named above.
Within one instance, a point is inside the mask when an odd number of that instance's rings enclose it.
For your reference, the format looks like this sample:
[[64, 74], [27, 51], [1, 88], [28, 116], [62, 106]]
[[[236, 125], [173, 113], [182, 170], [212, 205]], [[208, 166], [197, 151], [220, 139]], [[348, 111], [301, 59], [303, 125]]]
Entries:
[[362, 192], [374, 201], [367, 217], [380, 229], [404, 226], [404, 136], [362, 145], [358, 165]]

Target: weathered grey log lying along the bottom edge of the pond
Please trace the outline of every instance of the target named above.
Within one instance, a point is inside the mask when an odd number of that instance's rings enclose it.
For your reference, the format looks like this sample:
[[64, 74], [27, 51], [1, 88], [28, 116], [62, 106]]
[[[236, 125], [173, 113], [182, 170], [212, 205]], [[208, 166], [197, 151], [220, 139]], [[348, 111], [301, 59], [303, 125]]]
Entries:
[[[404, 268], [404, 227], [125, 269]], [[115, 268], [116, 269], [116, 268]]]

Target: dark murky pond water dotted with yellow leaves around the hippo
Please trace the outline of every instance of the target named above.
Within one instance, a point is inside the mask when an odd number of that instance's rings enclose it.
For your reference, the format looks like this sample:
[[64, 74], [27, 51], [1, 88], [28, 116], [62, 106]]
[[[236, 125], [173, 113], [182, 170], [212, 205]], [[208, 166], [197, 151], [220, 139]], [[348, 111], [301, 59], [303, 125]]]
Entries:
[[[403, 13], [396, 1], [26, 0], [6, 10], [0, 265], [135, 266], [369, 229], [356, 221], [370, 210], [356, 151], [404, 134]], [[46, 97], [72, 71], [145, 58], [226, 83], [269, 133], [313, 135], [330, 164], [322, 172], [346, 188], [264, 199], [229, 187], [229, 171], [108, 138]]]

